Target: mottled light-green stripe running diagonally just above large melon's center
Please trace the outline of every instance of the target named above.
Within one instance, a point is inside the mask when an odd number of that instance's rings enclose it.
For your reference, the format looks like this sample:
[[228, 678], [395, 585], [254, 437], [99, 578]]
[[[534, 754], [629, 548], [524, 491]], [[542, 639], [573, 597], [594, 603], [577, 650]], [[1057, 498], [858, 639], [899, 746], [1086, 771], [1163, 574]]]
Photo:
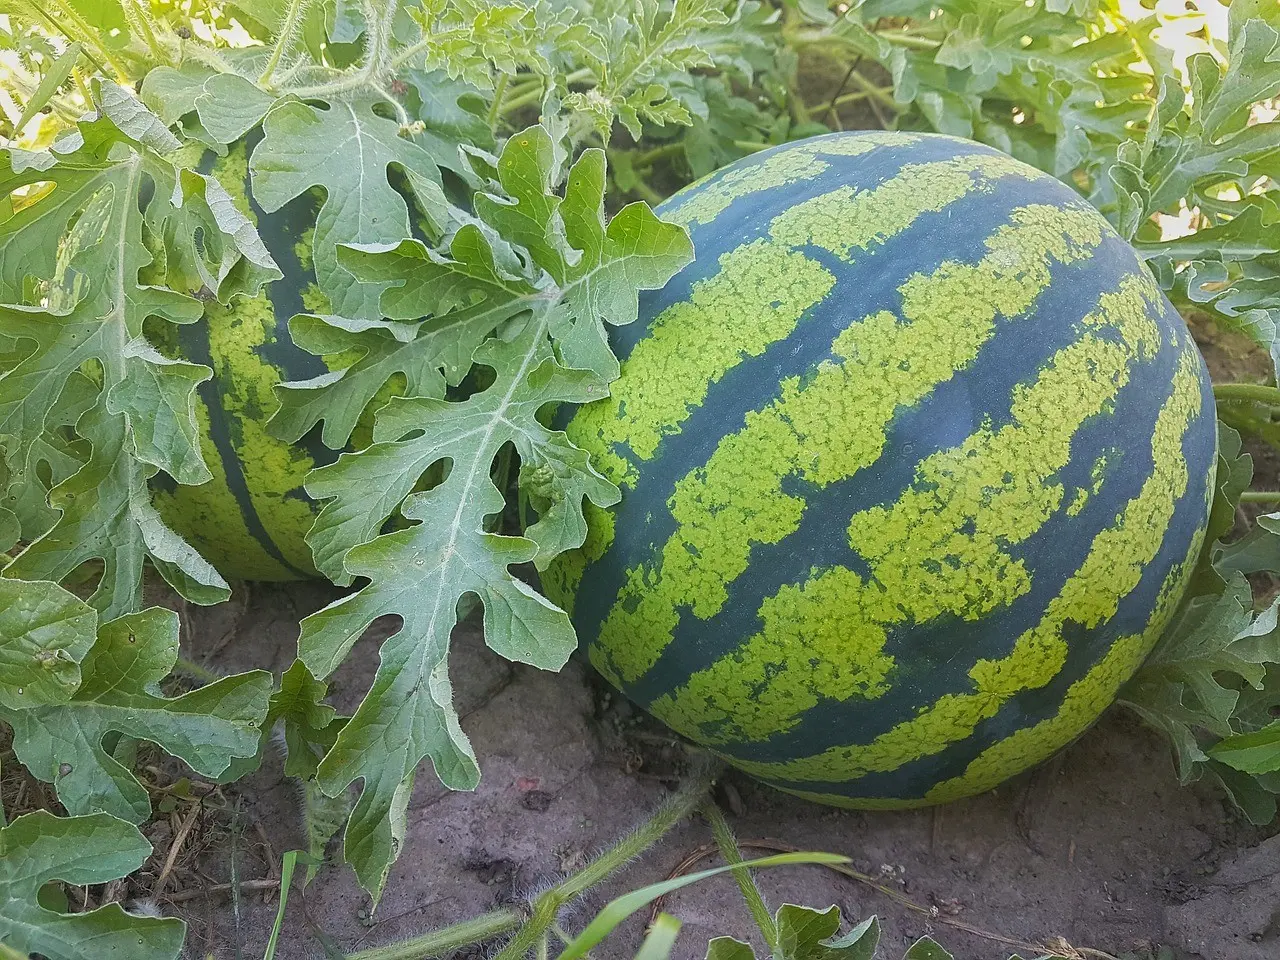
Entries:
[[783, 480], [824, 486], [874, 463], [895, 412], [973, 362], [996, 317], [1024, 315], [1052, 264], [1089, 256], [1103, 223], [1085, 209], [1019, 207], [978, 264], [948, 261], [909, 279], [902, 320], [879, 312], [852, 324], [832, 344], [841, 362], [820, 364], [805, 383], [785, 380], [774, 403], [749, 412], [742, 430], [677, 483], [677, 530], [659, 564], [628, 571], [590, 648], [593, 664], [620, 685], [634, 681], [671, 641], [681, 609], [700, 618], [721, 609], [751, 544], [778, 543], [800, 524], [804, 500], [785, 494]]

